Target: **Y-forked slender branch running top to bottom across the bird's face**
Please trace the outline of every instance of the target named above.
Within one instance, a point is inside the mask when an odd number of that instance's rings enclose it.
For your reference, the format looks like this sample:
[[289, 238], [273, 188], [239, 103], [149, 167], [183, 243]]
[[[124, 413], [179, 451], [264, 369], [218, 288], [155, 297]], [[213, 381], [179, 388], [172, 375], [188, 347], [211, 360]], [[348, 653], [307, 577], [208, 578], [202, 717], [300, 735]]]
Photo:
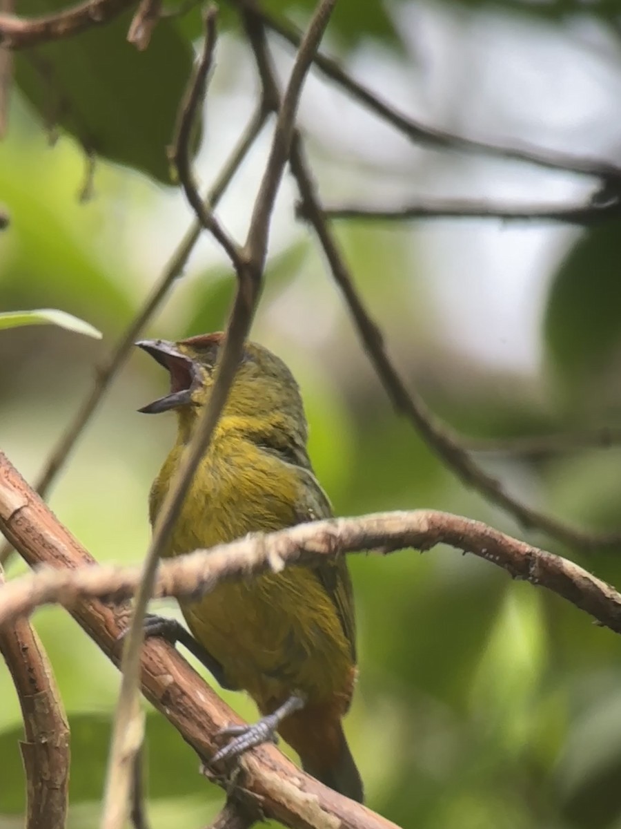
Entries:
[[[248, 229], [248, 239], [239, 250], [238, 246], [219, 226], [213, 211], [209, 208], [197, 212], [197, 218], [205, 230], [209, 230], [229, 255], [238, 277], [238, 290], [229, 318], [224, 348], [217, 366], [214, 388], [209, 396], [209, 404], [198, 420], [190, 444], [185, 448], [180, 466], [171, 482], [153, 530], [152, 543], [147, 551], [140, 589], [123, 653], [123, 679], [118, 697], [117, 715], [110, 758], [108, 762], [108, 781], [104, 796], [103, 829], [119, 829], [128, 816], [128, 800], [131, 788], [131, 768], [142, 744], [143, 718], [138, 701], [138, 676], [140, 654], [144, 638], [143, 624], [148, 600], [152, 596], [156, 567], [161, 550], [170, 538], [172, 527], [181, 510], [185, 495], [190, 488], [200, 459], [209, 447], [211, 435], [224, 408], [229, 389], [233, 383], [235, 371], [243, 354], [243, 343], [253, 320], [254, 311], [262, 287], [262, 270], [267, 253], [267, 239], [277, 189], [282, 179], [286, 160], [291, 145], [297, 104], [301, 95], [306, 73], [310, 68], [312, 57], [321, 36], [330, 19], [330, 12], [336, 0], [321, 0], [310, 21], [308, 31], [302, 39], [300, 50], [291, 70], [291, 78], [282, 99], [282, 108], [278, 114], [276, 128], [272, 138], [272, 149], [259, 187], [253, 216]], [[190, 167], [189, 143], [195, 113], [205, 92], [205, 82], [209, 75], [209, 66], [215, 45], [216, 11], [210, 8], [205, 17], [205, 46], [194, 75], [190, 79], [187, 95], [181, 104], [179, 127], [176, 133], [176, 145], [172, 158], [176, 163], [181, 185], [190, 201], [190, 205], [202, 203], [197, 201], [197, 192]]]

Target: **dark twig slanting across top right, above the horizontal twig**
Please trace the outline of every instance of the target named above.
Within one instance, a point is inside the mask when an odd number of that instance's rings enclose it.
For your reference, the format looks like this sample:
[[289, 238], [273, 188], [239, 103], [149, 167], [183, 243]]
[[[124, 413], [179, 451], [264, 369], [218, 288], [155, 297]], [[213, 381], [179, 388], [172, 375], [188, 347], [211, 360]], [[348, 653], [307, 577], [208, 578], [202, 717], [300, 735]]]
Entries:
[[[257, 0], [233, 0], [233, 3], [241, 9], [253, 12], [268, 29], [276, 32], [291, 46], [299, 46], [301, 41], [300, 31], [291, 23], [283, 21], [282, 18], [267, 11]], [[403, 114], [359, 81], [354, 80], [336, 61], [321, 53], [315, 55], [313, 61], [325, 77], [335, 81], [352, 98], [371, 109], [380, 119], [387, 124], [391, 124], [392, 127], [406, 135], [414, 143], [470, 153], [483, 153], [499, 158], [513, 158], [517, 161], [536, 164], [539, 167], [566, 170], [580, 175], [599, 177], [611, 182], [619, 182], [619, 179], [621, 179], [621, 168], [616, 164], [604, 162], [597, 158], [572, 156], [566, 153], [557, 153], [553, 150], [531, 147], [527, 144], [504, 146], [479, 139], [465, 138], [444, 129], [422, 124], [420, 121]]]

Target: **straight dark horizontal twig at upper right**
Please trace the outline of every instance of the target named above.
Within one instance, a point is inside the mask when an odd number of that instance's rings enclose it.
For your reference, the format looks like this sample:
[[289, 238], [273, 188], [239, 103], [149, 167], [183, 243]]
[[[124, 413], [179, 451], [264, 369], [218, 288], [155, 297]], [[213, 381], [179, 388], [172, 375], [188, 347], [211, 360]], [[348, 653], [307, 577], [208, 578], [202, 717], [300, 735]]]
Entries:
[[[301, 207], [297, 215], [303, 215]], [[425, 198], [399, 207], [325, 206], [327, 219], [361, 219], [363, 221], [407, 221], [410, 219], [502, 219], [503, 221], [551, 221], [566, 225], [595, 225], [600, 221], [616, 219], [621, 215], [621, 198], [608, 201], [596, 198], [574, 206], [559, 205], [503, 205], [476, 199]]]

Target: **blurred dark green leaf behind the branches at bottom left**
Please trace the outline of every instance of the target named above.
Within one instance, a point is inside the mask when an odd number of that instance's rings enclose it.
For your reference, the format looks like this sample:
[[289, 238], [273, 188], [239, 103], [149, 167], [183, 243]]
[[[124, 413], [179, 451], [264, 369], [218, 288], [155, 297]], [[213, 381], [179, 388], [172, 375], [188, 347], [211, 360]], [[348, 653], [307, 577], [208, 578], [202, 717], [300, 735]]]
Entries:
[[[70, 803], [99, 801], [110, 747], [109, 715], [84, 713], [69, 716], [71, 734]], [[22, 726], [0, 734], [2, 786], [0, 812], [18, 814], [24, 809], [24, 775], [18, 743]], [[185, 797], [209, 787], [198, 771], [195, 753], [161, 715], [147, 715], [147, 796], [149, 799]]]

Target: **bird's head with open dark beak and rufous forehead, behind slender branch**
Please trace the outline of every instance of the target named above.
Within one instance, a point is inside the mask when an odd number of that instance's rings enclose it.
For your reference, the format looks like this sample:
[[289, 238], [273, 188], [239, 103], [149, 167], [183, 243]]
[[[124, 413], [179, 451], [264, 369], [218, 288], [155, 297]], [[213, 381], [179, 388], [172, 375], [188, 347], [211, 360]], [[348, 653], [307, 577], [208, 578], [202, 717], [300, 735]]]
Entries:
[[[190, 337], [180, 342], [142, 340], [147, 351], [171, 378], [171, 390], [139, 411], [159, 414], [176, 410], [180, 421], [191, 421], [209, 400], [214, 386], [222, 332]], [[300, 390], [285, 363], [256, 342], [247, 342], [224, 407], [223, 418], [288, 422], [296, 424], [298, 438], [306, 443], [306, 417]]]

